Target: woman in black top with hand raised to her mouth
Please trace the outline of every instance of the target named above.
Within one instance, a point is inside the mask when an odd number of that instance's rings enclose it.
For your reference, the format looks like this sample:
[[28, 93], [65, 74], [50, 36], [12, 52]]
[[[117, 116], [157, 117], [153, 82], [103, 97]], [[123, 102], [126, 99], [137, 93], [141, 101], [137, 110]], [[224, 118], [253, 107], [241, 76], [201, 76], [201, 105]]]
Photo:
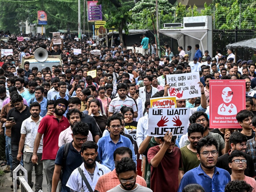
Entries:
[[95, 119], [97, 122], [100, 131], [100, 137], [102, 137], [103, 131], [106, 129], [107, 126], [107, 116], [102, 114], [99, 109], [100, 109], [100, 102], [98, 99], [92, 99], [89, 102], [90, 110], [91, 110], [91, 116]]

